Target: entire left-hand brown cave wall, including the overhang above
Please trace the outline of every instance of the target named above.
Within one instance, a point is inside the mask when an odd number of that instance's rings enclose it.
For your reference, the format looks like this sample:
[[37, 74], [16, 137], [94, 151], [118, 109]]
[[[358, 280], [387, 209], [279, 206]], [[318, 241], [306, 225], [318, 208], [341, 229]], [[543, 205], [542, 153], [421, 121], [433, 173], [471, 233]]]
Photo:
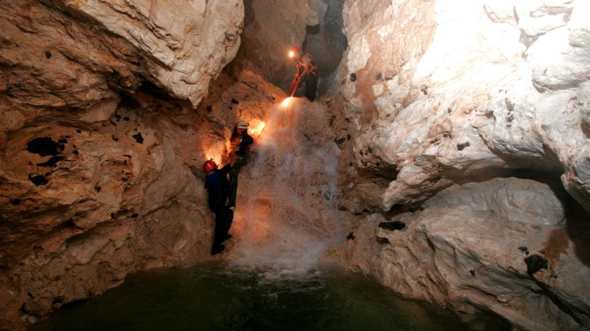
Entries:
[[0, 9], [0, 328], [129, 272], [210, 259], [213, 219], [188, 166], [236, 115], [194, 108], [237, 52], [242, 2]]

